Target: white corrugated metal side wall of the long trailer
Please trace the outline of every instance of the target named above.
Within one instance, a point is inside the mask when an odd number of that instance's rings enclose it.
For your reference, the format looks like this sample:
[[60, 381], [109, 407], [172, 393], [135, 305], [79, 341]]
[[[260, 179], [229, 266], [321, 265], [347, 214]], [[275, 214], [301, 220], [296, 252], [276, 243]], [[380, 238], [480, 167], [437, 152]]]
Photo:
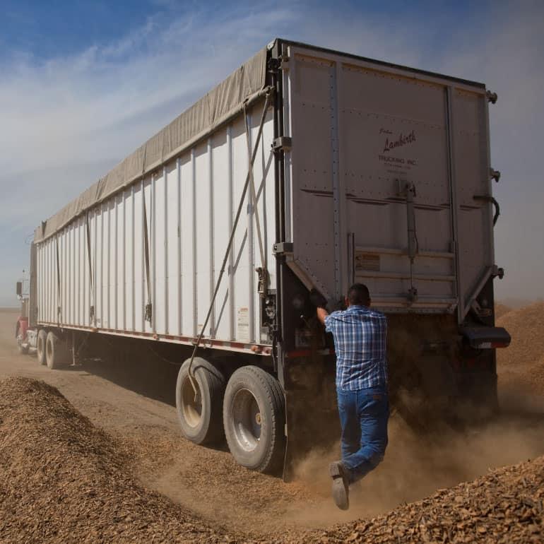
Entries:
[[[262, 103], [257, 104], [248, 112], [252, 146], [262, 107]], [[271, 271], [270, 288], [275, 289], [272, 139], [273, 114], [269, 110], [254, 165], [254, 181], [261, 237]], [[240, 116], [216, 131], [208, 141], [146, 175], [140, 184], [124, 189], [91, 209], [88, 219], [85, 215], [76, 218], [56, 236], [38, 243], [40, 323], [95, 327], [126, 334], [195, 337], [208, 311], [248, 167], [247, 134]], [[255, 268], [263, 263], [256, 248], [255, 213], [250, 195], [248, 191], [246, 213], [237, 228], [230, 269], [223, 278], [205, 338], [245, 344], [261, 341]], [[57, 275], [57, 243], [60, 276]], [[57, 280], [61, 286], [58, 316]], [[145, 319], [148, 302], [153, 304], [151, 322]]]

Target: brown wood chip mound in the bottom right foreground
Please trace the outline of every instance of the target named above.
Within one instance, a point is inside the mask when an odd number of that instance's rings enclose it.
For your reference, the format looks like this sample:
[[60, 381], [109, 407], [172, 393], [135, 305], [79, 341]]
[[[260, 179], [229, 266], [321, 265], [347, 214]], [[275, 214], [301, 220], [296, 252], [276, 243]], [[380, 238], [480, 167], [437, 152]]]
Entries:
[[384, 516], [313, 533], [308, 541], [542, 544], [543, 509], [544, 456], [439, 490]]

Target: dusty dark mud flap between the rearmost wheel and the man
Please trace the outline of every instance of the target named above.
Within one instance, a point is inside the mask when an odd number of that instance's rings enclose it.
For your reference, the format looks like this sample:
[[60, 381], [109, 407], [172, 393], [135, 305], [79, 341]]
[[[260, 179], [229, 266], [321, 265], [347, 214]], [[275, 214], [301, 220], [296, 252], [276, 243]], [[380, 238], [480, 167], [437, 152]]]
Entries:
[[297, 466], [310, 451], [329, 449], [340, 438], [335, 362], [333, 355], [316, 353], [295, 352], [285, 358], [285, 481], [295, 477]]

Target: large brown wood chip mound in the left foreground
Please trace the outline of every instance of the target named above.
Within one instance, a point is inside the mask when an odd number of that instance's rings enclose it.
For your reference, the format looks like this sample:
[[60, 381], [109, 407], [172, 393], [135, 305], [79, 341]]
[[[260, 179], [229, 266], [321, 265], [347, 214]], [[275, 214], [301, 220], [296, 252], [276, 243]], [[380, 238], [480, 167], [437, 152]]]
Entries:
[[0, 542], [225, 542], [128, 464], [54, 387], [0, 381]]

